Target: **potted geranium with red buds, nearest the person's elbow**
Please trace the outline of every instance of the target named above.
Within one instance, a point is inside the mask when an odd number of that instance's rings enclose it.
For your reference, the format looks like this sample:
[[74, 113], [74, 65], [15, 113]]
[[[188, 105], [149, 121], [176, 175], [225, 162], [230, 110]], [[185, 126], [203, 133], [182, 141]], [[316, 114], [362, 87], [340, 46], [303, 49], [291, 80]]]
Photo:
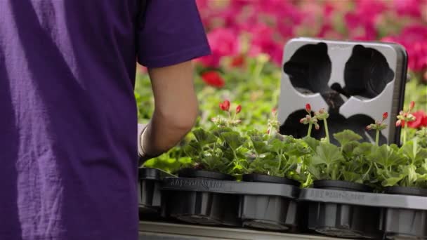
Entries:
[[[243, 171], [246, 138], [232, 129], [240, 122], [236, 117], [242, 107], [237, 105], [233, 116], [228, 100], [221, 102], [220, 108], [228, 117], [212, 119], [215, 128], [192, 131], [195, 138], [184, 146], [184, 152], [192, 159], [192, 164], [180, 169], [178, 177], [234, 181], [235, 175]], [[240, 225], [237, 219], [239, 199], [236, 195], [207, 191], [168, 191], [166, 194], [167, 200], [163, 204], [165, 215], [202, 225]]]

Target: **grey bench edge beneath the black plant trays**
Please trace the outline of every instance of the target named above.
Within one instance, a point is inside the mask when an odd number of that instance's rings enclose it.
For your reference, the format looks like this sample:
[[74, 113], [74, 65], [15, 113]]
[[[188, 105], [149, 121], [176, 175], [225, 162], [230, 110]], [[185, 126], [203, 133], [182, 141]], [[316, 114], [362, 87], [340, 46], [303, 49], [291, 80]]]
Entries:
[[[249, 229], [180, 225], [165, 222], [140, 222], [140, 240], [326, 240], [329, 236], [284, 234]], [[343, 240], [343, 239], [341, 239]]]

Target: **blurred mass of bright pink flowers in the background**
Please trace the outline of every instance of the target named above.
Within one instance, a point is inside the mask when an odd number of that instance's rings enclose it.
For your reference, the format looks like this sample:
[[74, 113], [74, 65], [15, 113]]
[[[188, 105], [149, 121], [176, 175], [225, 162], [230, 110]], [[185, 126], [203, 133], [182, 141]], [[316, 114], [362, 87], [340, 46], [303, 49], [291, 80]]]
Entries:
[[280, 65], [284, 44], [296, 36], [391, 41], [402, 44], [409, 69], [427, 70], [427, 0], [197, 0], [213, 54], [201, 58], [219, 67], [223, 57], [270, 55]]

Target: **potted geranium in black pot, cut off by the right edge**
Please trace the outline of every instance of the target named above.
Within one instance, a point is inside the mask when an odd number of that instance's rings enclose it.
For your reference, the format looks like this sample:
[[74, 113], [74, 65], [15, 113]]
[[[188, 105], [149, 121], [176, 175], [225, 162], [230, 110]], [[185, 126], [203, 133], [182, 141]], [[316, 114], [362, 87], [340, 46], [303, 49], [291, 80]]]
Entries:
[[[372, 148], [369, 159], [374, 162], [376, 178], [387, 194], [427, 196], [427, 149], [423, 147], [425, 130], [402, 147], [382, 145]], [[421, 144], [420, 144], [421, 143]], [[385, 208], [383, 232], [388, 237], [425, 239], [427, 211]], [[411, 220], [411, 224], [402, 224]]]

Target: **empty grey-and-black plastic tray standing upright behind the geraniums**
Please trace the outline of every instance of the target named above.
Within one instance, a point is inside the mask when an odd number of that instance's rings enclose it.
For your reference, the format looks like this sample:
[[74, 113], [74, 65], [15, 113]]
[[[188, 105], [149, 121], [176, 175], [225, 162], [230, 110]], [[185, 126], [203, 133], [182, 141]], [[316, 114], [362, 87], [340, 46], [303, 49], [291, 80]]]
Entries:
[[[324, 108], [329, 112], [330, 135], [350, 129], [364, 141], [374, 142], [375, 133], [365, 127], [381, 120], [383, 112], [391, 116], [385, 123], [393, 126], [405, 93], [405, 48], [381, 42], [296, 38], [284, 49], [280, 133], [306, 136], [307, 126], [299, 124], [307, 114], [306, 103], [313, 111]], [[324, 137], [322, 122], [312, 136]], [[386, 142], [400, 142], [400, 131], [393, 127], [381, 131], [380, 144]]]

